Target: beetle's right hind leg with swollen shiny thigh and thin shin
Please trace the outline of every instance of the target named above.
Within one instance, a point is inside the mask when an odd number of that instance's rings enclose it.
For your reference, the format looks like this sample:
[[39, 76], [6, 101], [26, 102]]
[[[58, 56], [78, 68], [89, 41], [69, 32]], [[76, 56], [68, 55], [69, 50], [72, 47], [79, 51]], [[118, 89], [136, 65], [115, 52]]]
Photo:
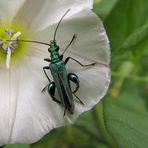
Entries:
[[76, 89], [73, 91], [73, 94], [79, 100], [79, 102], [84, 105], [83, 101], [76, 95], [76, 92], [79, 89], [79, 83], [80, 83], [78, 76], [76, 74], [74, 74], [74, 73], [69, 73], [68, 74], [68, 79], [76, 84]]

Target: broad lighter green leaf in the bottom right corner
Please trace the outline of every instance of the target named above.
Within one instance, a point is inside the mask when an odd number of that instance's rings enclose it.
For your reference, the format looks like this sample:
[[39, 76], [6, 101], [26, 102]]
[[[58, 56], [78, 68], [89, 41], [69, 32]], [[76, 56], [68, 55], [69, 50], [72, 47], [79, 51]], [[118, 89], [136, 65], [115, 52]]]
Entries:
[[126, 82], [117, 98], [104, 101], [106, 128], [122, 148], [148, 146], [148, 106], [135, 83]]

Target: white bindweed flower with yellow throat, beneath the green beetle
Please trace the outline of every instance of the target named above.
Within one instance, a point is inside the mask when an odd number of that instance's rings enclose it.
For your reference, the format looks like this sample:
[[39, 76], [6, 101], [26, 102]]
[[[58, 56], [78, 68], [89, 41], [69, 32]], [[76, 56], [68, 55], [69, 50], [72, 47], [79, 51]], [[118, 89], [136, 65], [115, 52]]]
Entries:
[[[1, 0], [0, 1], [0, 145], [33, 143], [53, 128], [73, 123], [85, 111], [95, 106], [106, 94], [110, 82], [109, 41], [101, 20], [91, 11], [93, 0]], [[64, 54], [74, 61], [66, 65], [80, 80], [74, 114], [52, 100], [42, 89], [49, 83], [43, 67], [48, 66], [48, 46], [19, 42], [17, 39], [50, 43], [57, 23], [60, 52], [76, 34], [76, 39]], [[9, 41], [8, 41], [9, 40]], [[48, 76], [52, 79], [49, 72]], [[72, 84], [71, 84], [72, 85]], [[72, 86], [73, 87], [73, 86]]]

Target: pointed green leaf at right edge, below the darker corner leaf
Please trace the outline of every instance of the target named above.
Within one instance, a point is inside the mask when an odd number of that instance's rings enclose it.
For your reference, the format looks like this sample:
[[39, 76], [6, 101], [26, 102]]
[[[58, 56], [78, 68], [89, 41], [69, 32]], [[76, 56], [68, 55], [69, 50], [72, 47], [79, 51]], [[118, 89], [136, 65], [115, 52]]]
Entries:
[[143, 56], [148, 55], [148, 24], [135, 30], [124, 43], [113, 53], [112, 65], [120, 65], [124, 60], [131, 60], [138, 64]]

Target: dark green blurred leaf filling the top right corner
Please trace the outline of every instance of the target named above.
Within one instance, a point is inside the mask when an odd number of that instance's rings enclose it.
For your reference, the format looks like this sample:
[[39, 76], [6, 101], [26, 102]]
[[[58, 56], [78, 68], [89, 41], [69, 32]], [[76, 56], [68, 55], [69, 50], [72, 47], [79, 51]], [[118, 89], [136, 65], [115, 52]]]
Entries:
[[[119, 50], [127, 44], [136, 45], [136, 42], [146, 36], [141, 28], [148, 22], [147, 0], [119, 0], [110, 15], [105, 20], [105, 27], [110, 39], [112, 51]], [[140, 29], [141, 28], [141, 29]], [[135, 32], [136, 31], [136, 32]], [[133, 34], [134, 33], [134, 34]], [[148, 32], [147, 32], [148, 33]], [[138, 35], [140, 39], [135, 39]], [[128, 43], [126, 41], [128, 40]], [[130, 43], [131, 41], [131, 43]]]

